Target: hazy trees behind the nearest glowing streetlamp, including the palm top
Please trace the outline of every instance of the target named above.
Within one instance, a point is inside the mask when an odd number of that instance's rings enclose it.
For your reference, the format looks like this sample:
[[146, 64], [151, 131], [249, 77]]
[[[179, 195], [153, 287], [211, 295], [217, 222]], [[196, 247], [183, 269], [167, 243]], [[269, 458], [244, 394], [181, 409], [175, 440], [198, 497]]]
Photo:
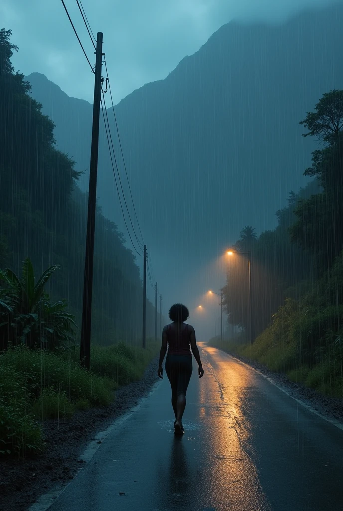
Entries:
[[[252, 226], [241, 231], [234, 250], [251, 251], [253, 333], [256, 337], [270, 323], [286, 296], [299, 292], [299, 284], [312, 278], [312, 255], [290, 240], [288, 228], [296, 220], [295, 204], [316, 193], [319, 185], [310, 182], [298, 194], [290, 192], [287, 207], [277, 212], [278, 225], [256, 237]], [[227, 285], [223, 288], [228, 321], [249, 330], [248, 254], [228, 255]], [[292, 289], [290, 289], [292, 288]]]

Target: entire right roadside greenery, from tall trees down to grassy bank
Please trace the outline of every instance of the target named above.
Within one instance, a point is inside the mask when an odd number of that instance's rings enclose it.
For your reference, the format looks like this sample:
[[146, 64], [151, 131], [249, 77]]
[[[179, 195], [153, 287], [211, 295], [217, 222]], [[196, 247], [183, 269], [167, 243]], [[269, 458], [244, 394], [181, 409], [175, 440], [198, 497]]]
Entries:
[[304, 172], [314, 180], [289, 193], [274, 230], [241, 230], [233, 248], [243, 253], [233, 251], [223, 288], [228, 322], [241, 333], [210, 344], [343, 398], [343, 90], [323, 94], [300, 124], [322, 147]]

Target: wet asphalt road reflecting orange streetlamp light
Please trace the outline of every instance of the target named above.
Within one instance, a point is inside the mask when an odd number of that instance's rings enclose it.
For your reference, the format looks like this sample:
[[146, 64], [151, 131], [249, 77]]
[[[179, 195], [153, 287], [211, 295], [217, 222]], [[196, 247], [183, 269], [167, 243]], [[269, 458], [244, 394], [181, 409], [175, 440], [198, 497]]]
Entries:
[[50, 511], [342, 511], [343, 430], [199, 348], [205, 376], [193, 359], [185, 435], [174, 435], [164, 373]]

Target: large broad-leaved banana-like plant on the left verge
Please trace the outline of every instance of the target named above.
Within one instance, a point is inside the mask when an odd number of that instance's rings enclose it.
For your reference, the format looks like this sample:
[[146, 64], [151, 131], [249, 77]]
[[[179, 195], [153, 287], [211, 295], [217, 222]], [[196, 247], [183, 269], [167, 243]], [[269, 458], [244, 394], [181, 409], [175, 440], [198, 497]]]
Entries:
[[65, 347], [74, 338], [74, 316], [69, 314], [65, 301], [52, 304], [44, 286], [59, 266], [51, 266], [35, 284], [30, 259], [23, 263], [21, 279], [7, 269], [0, 270], [0, 349], [8, 342], [29, 347]]

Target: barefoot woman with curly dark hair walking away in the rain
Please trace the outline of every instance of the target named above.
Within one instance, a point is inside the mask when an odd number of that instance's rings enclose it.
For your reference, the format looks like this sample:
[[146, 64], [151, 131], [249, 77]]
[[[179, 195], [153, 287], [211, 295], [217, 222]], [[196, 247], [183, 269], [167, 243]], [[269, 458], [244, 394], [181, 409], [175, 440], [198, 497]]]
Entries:
[[171, 403], [173, 404], [176, 417], [174, 423], [175, 434], [183, 434], [182, 416], [186, 408], [186, 393], [193, 371], [190, 347], [199, 364], [199, 378], [204, 376], [204, 369], [200, 360], [195, 330], [190, 324], [185, 324], [189, 317], [187, 307], [182, 304], [175, 304], [170, 307], [168, 315], [173, 323], [167, 324], [162, 331], [162, 345], [157, 374], [159, 378], [162, 378], [162, 362], [168, 345], [165, 372], [172, 392]]

